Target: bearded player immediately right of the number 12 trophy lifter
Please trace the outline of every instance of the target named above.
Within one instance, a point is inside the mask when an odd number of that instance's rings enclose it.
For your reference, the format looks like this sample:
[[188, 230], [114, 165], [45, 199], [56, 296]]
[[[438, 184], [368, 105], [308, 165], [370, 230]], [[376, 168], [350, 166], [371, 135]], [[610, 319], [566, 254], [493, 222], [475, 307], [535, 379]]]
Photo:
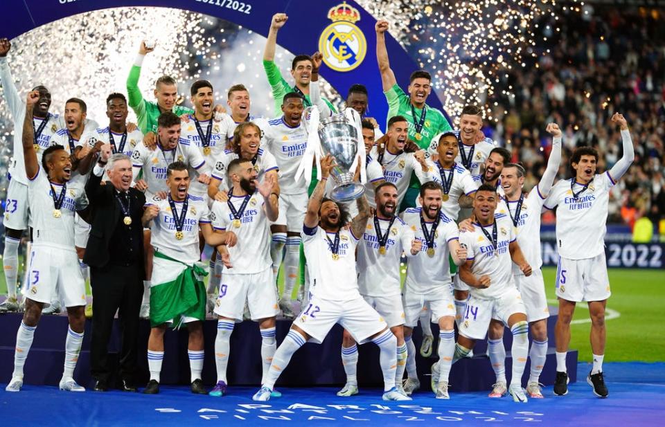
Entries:
[[[404, 309], [400, 284], [400, 258], [420, 253], [422, 242], [414, 238], [414, 232], [396, 216], [397, 187], [392, 183], [378, 185], [375, 192], [376, 211], [368, 222], [358, 248], [358, 289], [362, 298], [387, 322], [397, 338], [397, 369], [395, 383], [402, 392], [402, 376], [407, 362], [407, 346], [404, 342]], [[346, 372], [346, 385], [337, 396], [358, 394], [356, 365], [358, 348], [353, 336], [344, 331], [342, 363]], [[402, 394], [404, 394], [402, 392]]]

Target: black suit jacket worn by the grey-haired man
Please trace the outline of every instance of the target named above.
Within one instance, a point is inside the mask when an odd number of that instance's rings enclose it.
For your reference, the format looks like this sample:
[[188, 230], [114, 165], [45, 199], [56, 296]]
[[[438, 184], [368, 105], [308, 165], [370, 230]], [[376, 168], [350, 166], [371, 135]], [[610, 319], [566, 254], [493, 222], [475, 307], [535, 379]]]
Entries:
[[[111, 256], [109, 241], [122, 214], [115, 197], [116, 189], [110, 182], [101, 185], [102, 178], [103, 176], [96, 176], [91, 173], [88, 182], [85, 184], [85, 194], [91, 208], [92, 228], [83, 261], [91, 267], [104, 267], [109, 263]], [[132, 224], [139, 224], [140, 226], [145, 195], [135, 188], [130, 188], [127, 194], [130, 197]], [[141, 239], [143, 239], [143, 233], [141, 233]], [[141, 240], [141, 254], [139, 256], [140, 264], [143, 265], [143, 240]]]

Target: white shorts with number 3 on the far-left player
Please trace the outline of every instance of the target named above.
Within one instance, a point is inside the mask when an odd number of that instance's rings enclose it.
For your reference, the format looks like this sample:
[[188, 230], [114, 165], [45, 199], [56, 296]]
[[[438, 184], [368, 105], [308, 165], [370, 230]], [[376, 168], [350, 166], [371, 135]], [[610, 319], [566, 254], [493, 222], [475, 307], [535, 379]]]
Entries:
[[65, 307], [85, 306], [85, 282], [76, 251], [33, 243], [28, 280], [21, 293], [46, 307], [53, 300], [64, 302]]

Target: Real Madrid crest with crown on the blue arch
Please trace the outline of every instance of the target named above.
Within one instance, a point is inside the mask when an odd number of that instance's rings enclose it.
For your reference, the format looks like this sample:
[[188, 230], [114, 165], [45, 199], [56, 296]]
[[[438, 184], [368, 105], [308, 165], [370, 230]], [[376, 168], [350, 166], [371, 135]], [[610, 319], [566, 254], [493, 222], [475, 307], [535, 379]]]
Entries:
[[342, 2], [328, 11], [332, 24], [319, 37], [319, 51], [323, 62], [335, 71], [351, 71], [364, 60], [367, 41], [354, 23], [360, 21], [360, 12]]

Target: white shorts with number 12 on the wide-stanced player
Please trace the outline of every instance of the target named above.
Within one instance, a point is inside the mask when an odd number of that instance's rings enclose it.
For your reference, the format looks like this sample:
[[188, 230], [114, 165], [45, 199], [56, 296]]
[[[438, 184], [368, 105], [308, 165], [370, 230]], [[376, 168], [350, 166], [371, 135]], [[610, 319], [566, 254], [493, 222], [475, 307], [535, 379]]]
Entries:
[[312, 296], [293, 324], [303, 329], [310, 337], [310, 342], [321, 344], [328, 331], [339, 323], [348, 331], [358, 344], [371, 340], [388, 325], [385, 320], [370, 307], [361, 296], [353, 300], [332, 301]]

